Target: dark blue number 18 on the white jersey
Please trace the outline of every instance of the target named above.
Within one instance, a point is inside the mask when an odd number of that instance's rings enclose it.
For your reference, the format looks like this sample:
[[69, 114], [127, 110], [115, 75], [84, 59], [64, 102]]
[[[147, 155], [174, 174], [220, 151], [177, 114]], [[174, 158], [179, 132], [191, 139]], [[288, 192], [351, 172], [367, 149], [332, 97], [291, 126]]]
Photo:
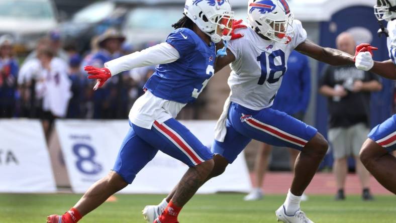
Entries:
[[[275, 65], [275, 58], [280, 57], [280, 65]], [[260, 79], [258, 79], [259, 85], [263, 85], [265, 80], [268, 81], [268, 83], [275, 83], [277, 82], [281, 76], [283, 76], [284, 72], [286, 72], [286, 63], [284, 60], [284, 52], [282, 50], [275, 50], [271, 54], [268, 55], [268, 62], [269, 62], [269, 76], [267, 79], [267, 54], [265, 52], [262, 52], [260, 56], [257, 57], [257, 61], [260, 62], [261, 65], [261, 76]], [[281, 71], [282, 74], [275, 78], [274, 75], [276, 72]]]

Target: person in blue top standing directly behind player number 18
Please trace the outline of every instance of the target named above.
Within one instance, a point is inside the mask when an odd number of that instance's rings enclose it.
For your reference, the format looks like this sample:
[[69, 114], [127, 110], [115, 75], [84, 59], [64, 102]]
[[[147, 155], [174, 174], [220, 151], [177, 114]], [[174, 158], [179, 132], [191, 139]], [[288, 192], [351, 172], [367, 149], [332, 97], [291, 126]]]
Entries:
[[[272, 108], [283, 111], [288, 115], [303, 121], [310, 101], [311, 69], [308, 57], [292, 51], [287, 61], [287, 71], [283, 76], [282, 84], [276, 93]], [[264, 175], [268, 169], [272, 146], [263, 143], [258, 150], [254, 165], [255, 180], [253, 190], [244, 197], [244, 200], [259, 200], [263, 197], [262, 185]], [[291, 171], [299, 151], [289, 148], [289, 163]], [[302, 200], [308, 197], [303, 194]]]

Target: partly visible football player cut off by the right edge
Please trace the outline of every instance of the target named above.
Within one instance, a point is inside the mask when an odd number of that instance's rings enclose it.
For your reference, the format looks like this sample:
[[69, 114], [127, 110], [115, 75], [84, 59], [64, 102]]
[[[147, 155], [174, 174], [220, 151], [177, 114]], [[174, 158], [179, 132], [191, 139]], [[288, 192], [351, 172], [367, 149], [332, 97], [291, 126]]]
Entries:
[[[369, 52], [360, 52], [356, 56], [356, 67], [370, 70], [383, 77], [396, 79], [396, 0], [378, 0], [374, 6], [374, 14], [378, 21], [387, 21], [387, 28], [381, 27], [387, 36], [389, 60], [376, 62]], [[369, 44], [360, 48], [369, 49]], [[357, 48], [356, 51], [361, 50]], [[363, 50], [364, 51], [364, 50]], [[360, 150], [360, 160], [368, 171], [386, 189], [396, 194], [396, 158], [390, 152], [396, 151], [396, 115], [376, 126], [368, 134]]]

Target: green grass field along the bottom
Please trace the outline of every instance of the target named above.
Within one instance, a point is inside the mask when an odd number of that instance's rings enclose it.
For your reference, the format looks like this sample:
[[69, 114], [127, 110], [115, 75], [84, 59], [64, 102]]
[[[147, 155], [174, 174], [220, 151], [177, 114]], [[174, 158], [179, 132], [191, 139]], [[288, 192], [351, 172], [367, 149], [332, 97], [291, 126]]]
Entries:
[[[78, 194], [0, 194], [0, 223], [45, 222], [49, 214], [63, 213]], [[106, 202], [80, 222], [144, 223], [141, 210], [156, 204], [164, 195], [117, 195], [118, 201]], [[182, 223], [203, 222], [276, 222], [274, 211], [284, 195], [268, 195], [261, 201], [242, 201], [243, 194], [196, 195], [179, 216]], [[396, 196], [376, 196], [363, 202], [360, 196], [348, 196], [335, 202], [332, 196], [310, 196], [302, 209], [316, 223], [396, 222]]]

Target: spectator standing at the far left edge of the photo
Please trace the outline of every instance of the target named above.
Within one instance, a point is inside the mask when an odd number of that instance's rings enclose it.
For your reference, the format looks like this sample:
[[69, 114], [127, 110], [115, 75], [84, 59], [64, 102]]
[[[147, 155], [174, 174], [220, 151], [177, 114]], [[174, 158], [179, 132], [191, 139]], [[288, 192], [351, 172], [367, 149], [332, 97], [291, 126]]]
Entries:
[[18, 68], [13, 39], [3, 35], [0, 37], [0, 118], [11, 118], [15, 114]]

